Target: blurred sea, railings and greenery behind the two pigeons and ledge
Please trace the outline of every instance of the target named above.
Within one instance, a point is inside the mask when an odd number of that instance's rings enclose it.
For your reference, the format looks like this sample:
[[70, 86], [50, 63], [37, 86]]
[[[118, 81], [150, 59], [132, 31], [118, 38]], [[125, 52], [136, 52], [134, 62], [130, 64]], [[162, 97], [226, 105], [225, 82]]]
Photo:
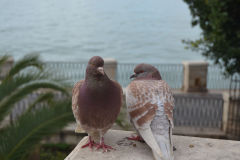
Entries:
[[[240, 140], [240, 2], [0, 0], [0, 159], [64, 159], [71, 89], [98, 55], [123, 89], [138, 63], [175, 98], [175, 135]], [[125, 104], [112, 129], [134, 130]]]

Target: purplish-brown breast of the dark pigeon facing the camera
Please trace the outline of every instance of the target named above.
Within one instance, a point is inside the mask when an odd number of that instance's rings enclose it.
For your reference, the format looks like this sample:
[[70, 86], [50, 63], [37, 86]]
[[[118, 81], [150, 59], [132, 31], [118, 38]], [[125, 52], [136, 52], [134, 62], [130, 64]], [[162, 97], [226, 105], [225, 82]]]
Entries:
[[117, 118], [122, 105], [122, 89], [116, 82], [91, 90], [84, 83], [79, 89], [78, 115], [83, 126], [104, 129]]

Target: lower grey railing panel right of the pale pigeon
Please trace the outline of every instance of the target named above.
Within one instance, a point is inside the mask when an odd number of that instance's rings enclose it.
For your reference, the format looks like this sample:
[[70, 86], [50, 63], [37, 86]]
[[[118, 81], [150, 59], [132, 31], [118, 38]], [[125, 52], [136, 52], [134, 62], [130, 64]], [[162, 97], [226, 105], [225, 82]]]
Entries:
[[195, 128], [222, 128], [221, 94], [175, 94], [174, 125]]

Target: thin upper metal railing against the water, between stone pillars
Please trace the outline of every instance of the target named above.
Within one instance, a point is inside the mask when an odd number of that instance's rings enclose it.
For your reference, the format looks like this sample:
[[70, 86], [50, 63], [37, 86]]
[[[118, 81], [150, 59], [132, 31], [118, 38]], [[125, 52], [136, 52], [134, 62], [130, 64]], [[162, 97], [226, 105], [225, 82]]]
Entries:
[[[133, 74], [137, 64], [118, 63], [117, 81], [126, 87], [130, 83], [129, 76]], [[183, 83], [182, 64], [153, 64], [157, 67], [171, 88], [181, 89]], [[71, 85], [84, 79], [87, 62], [47, 62], [47, 68], [52, 71], [55, 78], [65, 79]], [[207, 88], [208, 89], [228, 89], [230, 78], [222, 74], [222, 70], [214, 65], [208, 66]]]

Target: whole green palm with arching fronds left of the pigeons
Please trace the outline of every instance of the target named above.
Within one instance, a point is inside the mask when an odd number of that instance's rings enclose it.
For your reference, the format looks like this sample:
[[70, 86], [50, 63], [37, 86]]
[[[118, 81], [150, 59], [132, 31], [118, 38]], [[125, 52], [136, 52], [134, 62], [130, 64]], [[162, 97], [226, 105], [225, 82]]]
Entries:
[[[0, 66], [7, 59], [7, 56], [0, 58]], [[16, 62], [0, 83], [0, 124], [14, 104], [43, 89], [26, 112], [0, 129], [1, 160], [24, 159], [43, 137], [56, 133], [68, 122], [74, 121], [66, 85], [61, 79], [52, 78], [45, 70], [44, 63], [39, 61], [37, 55], [28, 55]], [[67, 99], [55, 102], [55, 91], [64, 93]], [[47, 102], [43, 103], [45, 107], [32, 110], [42, 102]]]

